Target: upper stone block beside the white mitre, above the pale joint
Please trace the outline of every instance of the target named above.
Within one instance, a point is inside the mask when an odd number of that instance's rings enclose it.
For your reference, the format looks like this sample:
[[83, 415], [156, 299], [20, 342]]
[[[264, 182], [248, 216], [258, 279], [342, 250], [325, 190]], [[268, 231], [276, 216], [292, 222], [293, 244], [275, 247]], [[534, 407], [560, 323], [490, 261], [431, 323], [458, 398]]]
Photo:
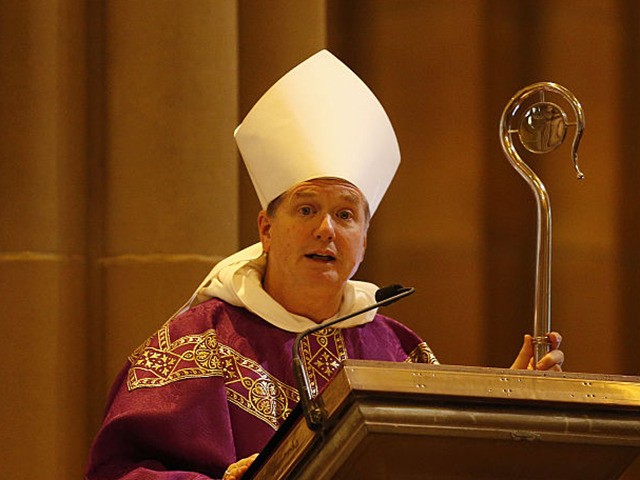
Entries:
[[236, 248], [235, 9], [106, 4], [107, 255]]

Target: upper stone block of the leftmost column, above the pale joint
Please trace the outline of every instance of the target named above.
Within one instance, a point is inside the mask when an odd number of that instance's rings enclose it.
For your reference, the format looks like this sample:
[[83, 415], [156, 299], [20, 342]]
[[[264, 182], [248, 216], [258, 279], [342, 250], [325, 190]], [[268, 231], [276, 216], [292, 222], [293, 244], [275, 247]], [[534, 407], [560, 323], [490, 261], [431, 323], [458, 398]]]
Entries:
[[0, 9], [0, 250], [81, 253], [85, 11], [73, 0]]

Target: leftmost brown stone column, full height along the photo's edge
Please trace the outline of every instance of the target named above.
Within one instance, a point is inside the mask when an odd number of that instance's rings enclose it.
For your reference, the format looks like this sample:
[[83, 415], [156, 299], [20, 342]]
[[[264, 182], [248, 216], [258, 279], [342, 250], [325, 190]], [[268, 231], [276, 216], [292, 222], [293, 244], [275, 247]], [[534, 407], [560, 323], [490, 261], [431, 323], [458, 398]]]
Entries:
[[0, 2], [3, 476], [80, 478], [86, 444], [85, 3]]

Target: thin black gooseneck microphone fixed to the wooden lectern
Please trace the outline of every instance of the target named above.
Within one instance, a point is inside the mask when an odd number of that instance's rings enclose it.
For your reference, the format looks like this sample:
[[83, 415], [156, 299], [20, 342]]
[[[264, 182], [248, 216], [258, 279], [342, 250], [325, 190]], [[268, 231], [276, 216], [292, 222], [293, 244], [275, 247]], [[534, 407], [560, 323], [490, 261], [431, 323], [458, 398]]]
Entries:
[[401, 298], [411, 295], [413, 292], [415, 292], [415, 288], [413, 287], [403, 287], [402, 285], [397, 284], [387, 285], [386, 287], [382, 287], [376, 291], [376, 303], [358, 310], [357, 312], [350, 313], [343, 317], [338, 317], [330, 322], [311, 327], [298, 334], [295, 342], [293, 342], [293, 374], [295, 376], [296, 386], [298, 387], [298, 393], [300, 395], [302, 413], [304, 414], [304, 418], [307, 421], [307, 426], [310, 430], [316, 431], [323, 427], [326, 419], [326, 412], [320, 402], [311, 397], [309, 375], [307, 374], [307, 369], [300, 359], [300, 342], [302, 339], [307, 335], [329, 328], [336, 323], [344, 322], [345, 320], [368, 312], [369, 310], [373, 310], [374, 308], [390, 305]]

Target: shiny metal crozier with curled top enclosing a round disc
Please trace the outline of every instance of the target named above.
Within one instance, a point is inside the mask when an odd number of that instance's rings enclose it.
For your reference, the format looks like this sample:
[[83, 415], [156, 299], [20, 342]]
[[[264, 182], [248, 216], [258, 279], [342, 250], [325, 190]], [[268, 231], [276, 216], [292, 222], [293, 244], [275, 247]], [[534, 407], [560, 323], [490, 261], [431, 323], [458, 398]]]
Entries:
[[[555, 103], [546, 101], [546, 92], [554, 93], [568, 102], [576, 120], [569, 122], [562, 108]], [[539, 95], [539, 100], [530, 104], [530, 99], [534, 95]], [[529, 107], [522, 113], [522, 107], [525, 103], [529, 104]], [[514, 128], [518, 117], [520, 118], [520, 123], [518, 128]], [[580, 102], [569, 90], [551, 82], [539, 82], [529, 85], [511, 98], [500, 118], [502, 150], [511, 165], [522, 175], [522, 178], [533, 190], [538, 207], [536, 287], [533, 318], [535, 363], [538, 363], [549, 351], [550, 343], [547, 333], [551, 331], [551, 204], [544, 184], [522, 160], [511, 136], [517, 133], [524, 148], [531, 153], [548, 153], [562, 144], [569, 126], [576, 127], [571, 155], [578, 180], [582, 180], [584, 174], [578, 167], [578, 144], [584, 131], [584, 113]]]

